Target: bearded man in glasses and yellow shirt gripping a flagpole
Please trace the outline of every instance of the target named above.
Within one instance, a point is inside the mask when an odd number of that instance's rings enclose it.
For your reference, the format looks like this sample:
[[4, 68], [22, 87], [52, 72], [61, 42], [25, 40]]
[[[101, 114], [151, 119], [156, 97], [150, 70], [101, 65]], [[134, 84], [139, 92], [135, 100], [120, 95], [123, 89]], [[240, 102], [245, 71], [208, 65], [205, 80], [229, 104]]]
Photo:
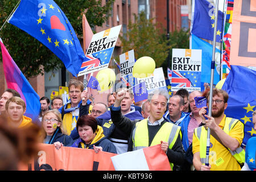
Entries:
[[[224, 114], [228, 106], [228, 97], [228, 93], [224, 90], [213, 89], [212, 117], [206, 114], [206, 107], [199, 111], [205, 125], [195, 129], [193, 134], [193, 165], [197, 171], [241, 170], [239, 164], [241, 161], [237, 156], [244, 155], [240, 147], [244, 136], [243, 123], [238, 119], [226, 117]], [[209, 105], [209, 93], [207, 100], [207, 105]], [[207, 127], [210, 129], [209, 166], [205, 166]], [[245, 156], [242, 158], [244, 160]]]

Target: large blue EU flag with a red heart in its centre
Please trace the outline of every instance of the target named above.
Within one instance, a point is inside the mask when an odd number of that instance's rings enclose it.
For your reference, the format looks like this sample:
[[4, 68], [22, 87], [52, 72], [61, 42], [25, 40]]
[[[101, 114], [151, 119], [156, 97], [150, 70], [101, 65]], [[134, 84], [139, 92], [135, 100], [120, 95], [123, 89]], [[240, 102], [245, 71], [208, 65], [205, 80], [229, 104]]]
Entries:
[[9, 23], [43, 43], [73, 76], [79, 73], [84, 51], [71, 23], [54, 1], [22, 0]]

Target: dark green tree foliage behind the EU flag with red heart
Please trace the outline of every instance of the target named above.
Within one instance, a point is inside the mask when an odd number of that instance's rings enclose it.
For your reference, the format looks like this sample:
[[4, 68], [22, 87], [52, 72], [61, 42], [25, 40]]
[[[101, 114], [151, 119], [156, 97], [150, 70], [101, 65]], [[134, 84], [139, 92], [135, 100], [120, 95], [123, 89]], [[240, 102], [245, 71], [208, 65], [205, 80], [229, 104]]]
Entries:
[[[0, 27], [18, 2], [19, 0], [0, 1]], [[85, 16], [91, 27], [102, 26], [111, 13], [114, 0], [106, 1], [105, 6], [102, 6], [102, 1], [97, 0], [55, 0], [55, 2], [63, 10], [82, 42], [82, 14], [86, 11]], [[12, 24], [5, 24], [0, 31], [0, 37], [26, 77], [43, 75], [44, 71], [49, 72], [64, 67], [62, 61], [47, 47]], [[1, 53], [0, 56], [2, 61]]]

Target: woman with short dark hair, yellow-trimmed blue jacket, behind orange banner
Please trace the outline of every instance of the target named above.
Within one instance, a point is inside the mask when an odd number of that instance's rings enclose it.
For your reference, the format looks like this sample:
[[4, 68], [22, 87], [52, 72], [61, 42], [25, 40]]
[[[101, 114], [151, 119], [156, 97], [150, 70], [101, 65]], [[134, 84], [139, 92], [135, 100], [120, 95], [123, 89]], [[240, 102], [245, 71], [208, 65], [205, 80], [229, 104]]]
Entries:
[[117, 154], [115, 146], [103, 134], [103, 129], [98, 126], [97, 121], [90, 115], [82, 115], [76, 123], [79, 139], [71, 147], [89, 148], [98, 151], [112, 152]]

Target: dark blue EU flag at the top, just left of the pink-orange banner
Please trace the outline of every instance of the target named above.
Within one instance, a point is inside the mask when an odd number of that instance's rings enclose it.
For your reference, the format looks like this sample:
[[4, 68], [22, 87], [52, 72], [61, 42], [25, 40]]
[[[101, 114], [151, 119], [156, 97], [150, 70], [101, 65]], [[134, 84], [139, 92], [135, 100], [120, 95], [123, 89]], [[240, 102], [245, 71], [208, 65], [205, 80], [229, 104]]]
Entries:
[[[193, 0], [192, 9], [192, 19], [191, 19], [191, 32], [196, 36], [213, 40], [214, 33], [214, 11], [215, 7], [212, 3], [206, 0]], [[220, 42], [222, 39], [222, 34], [224, 30], [224, 14], [218, 11], [218, 21], [217, 21], [217, 32], [216, 32], [216, 42]]]

